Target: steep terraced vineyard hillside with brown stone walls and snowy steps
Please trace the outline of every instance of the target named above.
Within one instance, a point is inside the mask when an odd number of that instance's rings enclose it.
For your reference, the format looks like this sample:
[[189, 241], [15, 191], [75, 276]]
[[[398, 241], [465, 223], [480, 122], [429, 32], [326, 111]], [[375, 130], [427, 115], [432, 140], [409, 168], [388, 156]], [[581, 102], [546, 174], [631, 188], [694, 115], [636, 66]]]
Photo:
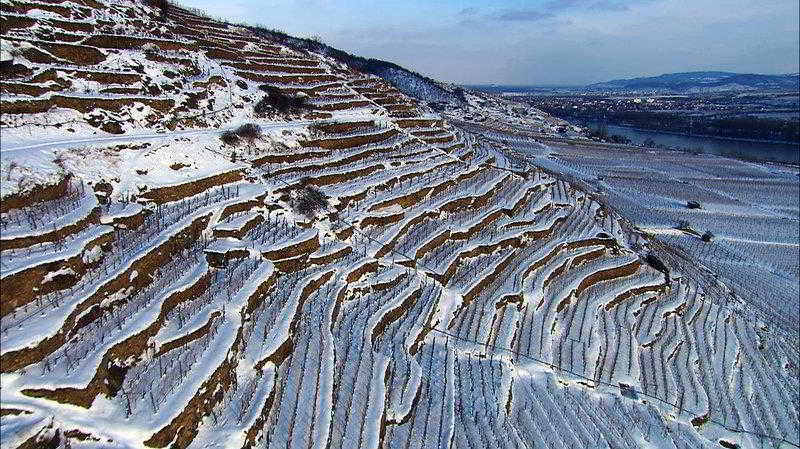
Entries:
[[800, 444], [796, 323], [508, 139], [179, 7], [2, 7], [3, 447]]

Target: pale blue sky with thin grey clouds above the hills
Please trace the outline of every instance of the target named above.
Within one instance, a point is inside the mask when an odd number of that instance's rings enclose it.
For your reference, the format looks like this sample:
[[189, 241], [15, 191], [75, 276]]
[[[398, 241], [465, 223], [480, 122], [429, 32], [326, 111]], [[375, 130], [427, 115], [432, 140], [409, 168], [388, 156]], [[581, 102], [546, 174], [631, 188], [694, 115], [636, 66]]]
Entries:
[[442, 81], [800, 71], [797, 0], [179, 0]]

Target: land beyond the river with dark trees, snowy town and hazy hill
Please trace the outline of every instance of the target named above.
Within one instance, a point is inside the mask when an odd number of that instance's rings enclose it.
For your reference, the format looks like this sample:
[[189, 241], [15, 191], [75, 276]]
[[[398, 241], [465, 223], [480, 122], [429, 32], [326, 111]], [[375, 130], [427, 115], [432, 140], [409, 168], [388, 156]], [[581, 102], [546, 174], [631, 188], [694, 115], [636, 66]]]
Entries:
[[800, 142], [798, 75], [685, 72], [582, 87], [475, 86], [603, 133], [617, 125]]

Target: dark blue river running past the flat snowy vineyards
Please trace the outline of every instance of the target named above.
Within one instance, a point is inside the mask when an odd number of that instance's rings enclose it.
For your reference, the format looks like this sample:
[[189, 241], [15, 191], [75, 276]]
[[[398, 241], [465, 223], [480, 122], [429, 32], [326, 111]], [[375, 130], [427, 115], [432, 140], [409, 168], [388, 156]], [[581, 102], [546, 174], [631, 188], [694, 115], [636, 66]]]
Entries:
[[[581, 126], [597, 128], [598, 122], [580, 123]], [[753, 142], [749, 140], [723, 139], [719, 137], [687, 136], [671, 134], [660, 131], [645, 131], [627, 126], [607, 126], [608, 134], [627, 137], [631, 143], [643, 143], [653, 139], [657, 144], [674, 148], [699, 150], [703, 153], [719, 156], [735, 157], [751, 161], [784, 162], [790, 164], [800, 163], [800, 144]]]

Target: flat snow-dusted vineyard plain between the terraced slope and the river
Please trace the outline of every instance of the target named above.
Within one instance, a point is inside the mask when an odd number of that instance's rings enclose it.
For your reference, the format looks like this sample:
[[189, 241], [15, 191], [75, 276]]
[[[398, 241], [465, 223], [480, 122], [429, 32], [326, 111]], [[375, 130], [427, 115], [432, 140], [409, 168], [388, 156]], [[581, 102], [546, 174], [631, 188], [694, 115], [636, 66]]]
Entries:
[[[486, 136], [509, 142], [502, 133]], [[520, 156], [579, 180], [657, 243], [709, 269], [764, 322], [797, 332], [797, 167], [677, 152], [535, 147], [527, 138], [510, 142]]]

